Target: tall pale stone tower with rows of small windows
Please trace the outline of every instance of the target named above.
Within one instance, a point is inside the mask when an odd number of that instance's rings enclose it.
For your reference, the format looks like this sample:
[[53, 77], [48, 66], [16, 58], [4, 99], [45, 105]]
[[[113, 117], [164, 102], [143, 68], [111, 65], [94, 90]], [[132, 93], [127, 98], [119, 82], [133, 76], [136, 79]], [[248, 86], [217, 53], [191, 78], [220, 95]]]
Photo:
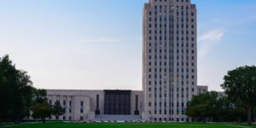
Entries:
[[190, 0], [149, 0], [143, 11], [144, 119], [187, 121], [197, 85], [196, 8]]

